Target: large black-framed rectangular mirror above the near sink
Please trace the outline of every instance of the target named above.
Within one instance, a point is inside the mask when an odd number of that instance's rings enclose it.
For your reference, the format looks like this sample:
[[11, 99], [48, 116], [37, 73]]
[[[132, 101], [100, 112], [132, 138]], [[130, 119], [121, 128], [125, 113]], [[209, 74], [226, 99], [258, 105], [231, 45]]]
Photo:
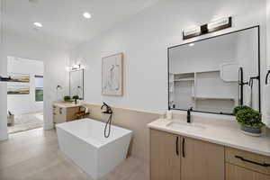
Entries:
[[260, 111], [259, 26], [168, 48], [168, 108]]

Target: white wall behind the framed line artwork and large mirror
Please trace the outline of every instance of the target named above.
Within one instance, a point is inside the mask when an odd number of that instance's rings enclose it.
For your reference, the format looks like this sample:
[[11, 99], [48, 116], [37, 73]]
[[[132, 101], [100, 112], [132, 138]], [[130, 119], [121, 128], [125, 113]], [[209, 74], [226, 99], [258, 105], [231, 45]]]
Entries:
[[[73, 49], [70, 59], [81, 58], [85, 71], [85, 101], [165, 111], [167, 108], [166, 48], [181, 44], [184, 28], [209, 23], [214, 19], [233, 17], [233, 27], [200, 38], [262, 25], [262, 61], [266, 59], [265, 0], [161, 0], [129, 21], [116, 24], [109, 31]], [[248, 12], [248, 14], [247, 14]], [[185, 40], [188, 42], [189, 40]], [[101, 58], [123, 52], [124, 95], [101, 95]]]

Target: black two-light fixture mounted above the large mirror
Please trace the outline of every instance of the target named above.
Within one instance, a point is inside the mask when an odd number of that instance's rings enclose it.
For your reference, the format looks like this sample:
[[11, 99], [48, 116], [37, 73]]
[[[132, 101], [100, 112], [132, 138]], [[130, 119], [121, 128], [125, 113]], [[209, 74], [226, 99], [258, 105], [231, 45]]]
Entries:
[[231, 27], [231, 17], [222, 18], [220, 20], [206, 23], [192, 29], [183, 31], [183, 40], [201, 36], [203, 34], [211, 33], [213, 31], [220, 31]]

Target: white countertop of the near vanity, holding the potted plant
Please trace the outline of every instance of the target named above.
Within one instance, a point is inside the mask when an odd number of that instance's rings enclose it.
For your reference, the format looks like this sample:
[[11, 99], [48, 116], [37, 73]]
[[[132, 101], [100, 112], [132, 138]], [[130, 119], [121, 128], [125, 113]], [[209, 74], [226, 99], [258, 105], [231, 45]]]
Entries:
[[[202, 139], [204, 141], [220, 144], [223, 146], [238, 148], [249, 152], [265, 155], [270, 157], [270, 137], [267, 135], [262, 137], [251, 137], [239, 130], [236, 121], [229, 120], [211, 120], [205, 121], [197, 118], [190, 125], [201, 128], [190, 127], [172, 127], [167, 126], [171, 122], [186, 123], [183, 120], [166, 120], [158, 119], [148, 124], [148, 128], [156, 130], [165, 130], [174, 134], [190, 137], [193, 139]], [[266, 133], [265, 133], [266, 134]]]

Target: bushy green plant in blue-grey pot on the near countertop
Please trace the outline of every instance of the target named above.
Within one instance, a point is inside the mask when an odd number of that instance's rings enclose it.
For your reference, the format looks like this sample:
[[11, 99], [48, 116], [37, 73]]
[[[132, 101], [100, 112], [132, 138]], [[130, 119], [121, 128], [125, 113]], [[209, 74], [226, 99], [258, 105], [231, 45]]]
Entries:
[[233, 110], [236, 120], [241, 125], [241, 130], [251, 136], [261, 136], [262, 128], [265, 124], [262, 122], [262, 114], [246, 105], [238, 106]]

